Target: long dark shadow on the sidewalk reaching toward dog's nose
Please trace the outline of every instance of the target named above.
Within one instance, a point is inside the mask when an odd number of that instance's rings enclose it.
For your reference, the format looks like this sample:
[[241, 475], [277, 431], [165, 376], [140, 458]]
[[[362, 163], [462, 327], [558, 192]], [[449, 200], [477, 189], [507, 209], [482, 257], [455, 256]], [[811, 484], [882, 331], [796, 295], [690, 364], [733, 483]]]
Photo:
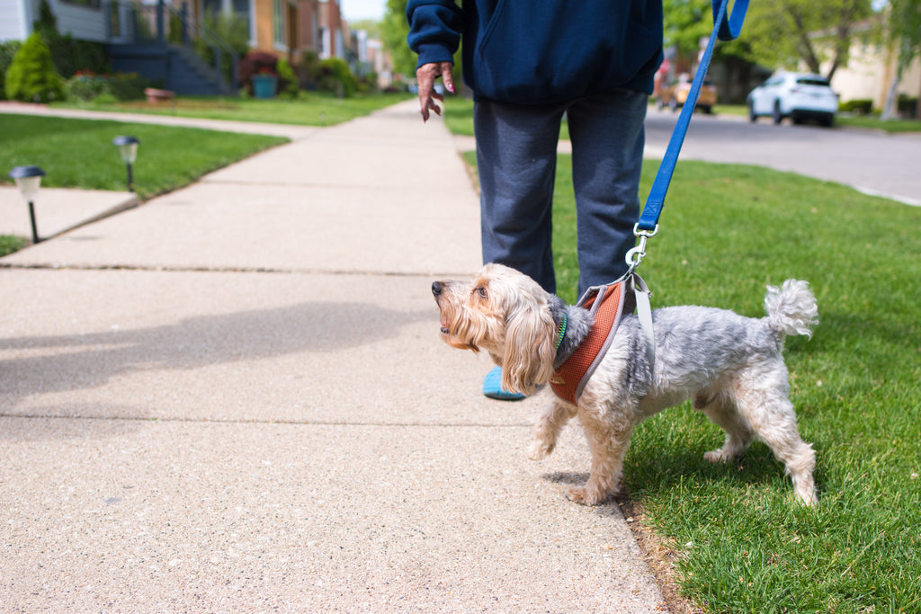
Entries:
[[[0, 399], [8, 412], [27, 396], [98, 388], [113, 377], [134, 373], [258, 362], [292, 353], [340, 352], [392, 339], [402, 326], [420, 321], [432, 321], [434, 327], [437, 311], [310, 302], [194, 317], [146, 329], [113, 326], [106, 332], [8, 338], [2, 340], [3, 350], [21, 357], [0, 361]], [[111, 409], [125, 418], [145, 417], [137, 415], [143, 410], [130, 404]], [[49, 415], [62, 415], [62, 408]]]

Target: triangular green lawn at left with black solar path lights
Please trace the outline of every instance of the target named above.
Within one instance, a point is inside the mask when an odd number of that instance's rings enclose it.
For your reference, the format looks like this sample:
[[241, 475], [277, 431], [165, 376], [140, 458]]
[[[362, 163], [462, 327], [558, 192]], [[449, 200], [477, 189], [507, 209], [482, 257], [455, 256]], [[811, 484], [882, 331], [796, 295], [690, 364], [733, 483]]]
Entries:
[[141, 200], [175, 190], [285, 138], [221, 133], [145, 123], [70, 120], [0, 114], [0, 169], [34, 164], [47, 175], [43, 187], [127, 189], [127, 172], [112, 139], [140, 139], [134, 186]]

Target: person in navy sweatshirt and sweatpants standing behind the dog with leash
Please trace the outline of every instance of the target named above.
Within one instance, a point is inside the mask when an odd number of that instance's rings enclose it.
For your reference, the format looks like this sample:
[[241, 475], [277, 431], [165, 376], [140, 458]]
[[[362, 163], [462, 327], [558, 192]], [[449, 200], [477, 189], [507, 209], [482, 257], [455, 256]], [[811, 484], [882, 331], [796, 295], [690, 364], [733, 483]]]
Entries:
[[[437, 79], [454, 92], [461, 40], [473, 92], [483, 261], [556, 292], [552, 207], [565, 115], [577, 207], [578, 293], [627, 270], [635, 246], [647, 99], [662, 60], [661, 0], [409, 0], [422, 119], [441, 114]], [[484, 394], [503, 390], [501, 372]]]

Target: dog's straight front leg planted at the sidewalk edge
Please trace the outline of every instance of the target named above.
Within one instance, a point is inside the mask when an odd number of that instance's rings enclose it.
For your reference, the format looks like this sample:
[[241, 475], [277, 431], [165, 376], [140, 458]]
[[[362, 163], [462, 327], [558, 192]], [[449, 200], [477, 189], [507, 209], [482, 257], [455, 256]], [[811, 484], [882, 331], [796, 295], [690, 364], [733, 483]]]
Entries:
[[629, 420], [606, 419], [610, 414], [589, 415], [579, 412], [579, 421], [589, 440], [591, 475], [585, 487], [571, 488], [566, 497], [577, 504], [604, 503], [620, 489], [624, 455], [633, 434]]

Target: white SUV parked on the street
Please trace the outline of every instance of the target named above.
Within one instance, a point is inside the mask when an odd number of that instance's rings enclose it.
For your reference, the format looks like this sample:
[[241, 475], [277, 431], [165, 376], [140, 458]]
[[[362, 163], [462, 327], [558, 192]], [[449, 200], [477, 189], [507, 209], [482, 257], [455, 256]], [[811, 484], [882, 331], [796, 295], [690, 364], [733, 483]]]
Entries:
[[815, 120], [831, 126], [838, 111], [838, 95], [822, 75], [777, 73], [752, 89], [746, 104], [752, 122], [769, 115], [775, 123], [788, 117], [794, 123]]

